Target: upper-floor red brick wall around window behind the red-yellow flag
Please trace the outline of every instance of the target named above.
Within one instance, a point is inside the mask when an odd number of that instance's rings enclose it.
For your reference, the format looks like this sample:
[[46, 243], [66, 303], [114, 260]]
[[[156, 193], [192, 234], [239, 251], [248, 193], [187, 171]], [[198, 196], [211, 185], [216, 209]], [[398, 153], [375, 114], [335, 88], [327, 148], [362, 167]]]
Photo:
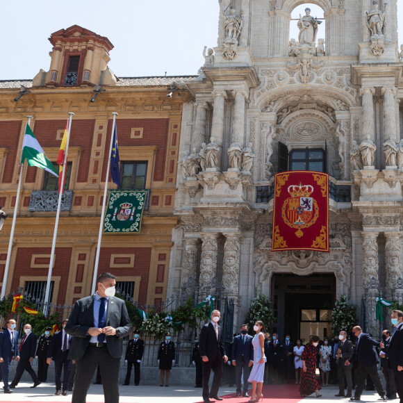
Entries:
[[[69, 147], [83, 147], [79, 160], [80, 166], [77, 170], [77, 182], [88, 180], [94, 125], [95, 121], [90, 119], [73, 118], [72, 120]], [[65, 127], [66, 120], [37, 120], [33, 132], [42, 147], [60, 147], [61, 141], [56, 140], [56, 133]]]

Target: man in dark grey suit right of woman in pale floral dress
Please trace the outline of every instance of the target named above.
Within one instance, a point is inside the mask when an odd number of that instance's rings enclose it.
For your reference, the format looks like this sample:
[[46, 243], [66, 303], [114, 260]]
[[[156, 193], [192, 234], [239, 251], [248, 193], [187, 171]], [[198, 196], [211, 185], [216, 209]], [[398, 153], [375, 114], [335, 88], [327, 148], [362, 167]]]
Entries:
[[[347, 331], [340, 331], [338, 336], [337, 354], [337, 369], [338, 369], [338, 394], [337, 397], [345, 396], [352, 397], [352, 364], [349, 363], [354, 347], [350, 340], [347, 340]], [[346, 364], [348, 361], [348, 364]], [[344, 394], [344, 377], [347, 381], [347, 395]]]

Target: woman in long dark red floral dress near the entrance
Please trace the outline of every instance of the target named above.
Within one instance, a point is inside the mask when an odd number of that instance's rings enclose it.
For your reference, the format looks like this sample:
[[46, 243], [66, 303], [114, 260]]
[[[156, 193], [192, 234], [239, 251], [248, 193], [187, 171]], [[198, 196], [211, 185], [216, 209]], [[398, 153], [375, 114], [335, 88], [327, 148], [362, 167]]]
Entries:
[[312, 336], [309, 344], [306, 345], [304, 352], [302, 352], [302, 376], [301, 385], [299, 386], [299, 393], [301, 393], [302, 397], [309, 396], [313, 392], [316, 393], [316, 397], [322, 396], [319, 393], [320, 384], [316, 380], [318, 344], [319, 337]]

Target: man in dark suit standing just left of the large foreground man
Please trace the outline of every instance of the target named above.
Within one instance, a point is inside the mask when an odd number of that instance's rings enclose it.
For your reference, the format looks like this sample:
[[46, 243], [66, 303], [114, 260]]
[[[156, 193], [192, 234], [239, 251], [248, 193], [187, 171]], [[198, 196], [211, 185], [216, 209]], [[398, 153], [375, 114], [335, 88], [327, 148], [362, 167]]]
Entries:
[[[51, 364], [52, 360], [55, 362], [56, 396], [60, 395], [60, 393], [62, 393], [63, 396], [67, 396], [69, 376], [70, 371], [72, 370], [72, 360], [69, 359], [69, 349], [72, 344], [72, 337], [69, 336], [65, 331], [67, 322], [67, 319], [63, 320], [63, 329], [54, 334], [47, 351], [47, 363]], [[62, 371], [63, 388], [61, 381]]]

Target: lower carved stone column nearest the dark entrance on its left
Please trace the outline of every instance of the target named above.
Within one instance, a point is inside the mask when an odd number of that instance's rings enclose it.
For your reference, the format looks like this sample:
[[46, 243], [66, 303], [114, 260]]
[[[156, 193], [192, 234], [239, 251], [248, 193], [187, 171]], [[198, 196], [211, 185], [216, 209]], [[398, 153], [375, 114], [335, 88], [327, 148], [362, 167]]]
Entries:
[[239, 295], [239, 268], [240, 268], [240, 234], [225, 235], [224, 262], [222, 269], [222, 285], [229, 298], [233, 298], [233, 323], [237, 323], [238, 295]]

